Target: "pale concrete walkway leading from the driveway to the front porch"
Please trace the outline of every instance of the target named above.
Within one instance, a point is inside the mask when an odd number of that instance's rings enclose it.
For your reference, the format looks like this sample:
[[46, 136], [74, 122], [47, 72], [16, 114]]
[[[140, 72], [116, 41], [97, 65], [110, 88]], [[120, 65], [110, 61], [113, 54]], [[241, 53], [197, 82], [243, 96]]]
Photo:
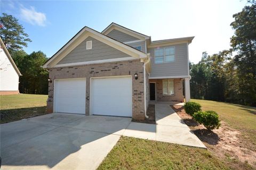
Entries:
[[170, 105], [155, 104], [156, 124], [131, 122], [123, 135], [206, 148]]

